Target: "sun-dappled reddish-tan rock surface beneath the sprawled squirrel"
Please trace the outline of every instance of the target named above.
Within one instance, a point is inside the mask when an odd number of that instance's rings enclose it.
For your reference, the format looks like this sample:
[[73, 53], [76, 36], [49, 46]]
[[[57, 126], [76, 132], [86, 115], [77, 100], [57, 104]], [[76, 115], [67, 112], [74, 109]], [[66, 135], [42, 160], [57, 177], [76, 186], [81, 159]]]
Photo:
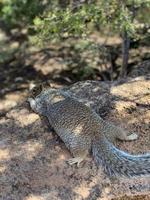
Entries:
[[[65, 88], [101, 117], [137, 132], [138, 140], [117, 142], [130, 153], [150, 152], [150, 81], [85, 81]], [[89, 156], [68, 166], [70, 153], [47, 120], [24, 102], [0, 118], [0, 199], [148, 200], [150, 177], [110, 180]]]

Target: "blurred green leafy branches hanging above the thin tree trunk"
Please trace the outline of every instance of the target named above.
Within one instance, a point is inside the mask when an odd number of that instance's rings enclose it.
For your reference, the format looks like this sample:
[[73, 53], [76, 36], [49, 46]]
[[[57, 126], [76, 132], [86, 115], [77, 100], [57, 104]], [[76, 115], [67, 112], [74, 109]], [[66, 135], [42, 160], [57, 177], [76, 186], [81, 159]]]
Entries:
[[[98, 0], [93, 3], [76, 4], [60, 9], [59, 5], [50, 6], [42, 16], [34, 20], [35, 30], [42, 41], [54, 38], [85, 37], [99, 26], [101, 30], [109, 28], [112, 32], [128, 32], [133, 35], [136, 24], [148, 22], [148, 13], [140, 15], [150, 8], [149, 0]], [[146, 19], [144, 21], [144, 19]]]

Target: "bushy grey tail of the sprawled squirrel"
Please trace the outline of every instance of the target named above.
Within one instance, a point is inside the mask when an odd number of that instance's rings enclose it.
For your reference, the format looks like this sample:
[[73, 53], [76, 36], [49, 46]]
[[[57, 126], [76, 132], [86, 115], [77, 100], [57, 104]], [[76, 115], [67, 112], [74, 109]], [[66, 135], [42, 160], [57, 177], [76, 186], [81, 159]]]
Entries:
[[130, 155], [117, 149], [105, 136], [94, 141], [92, 152], [96, 163], [103, 165], [110, 176], [150, 175], [150, 154]]

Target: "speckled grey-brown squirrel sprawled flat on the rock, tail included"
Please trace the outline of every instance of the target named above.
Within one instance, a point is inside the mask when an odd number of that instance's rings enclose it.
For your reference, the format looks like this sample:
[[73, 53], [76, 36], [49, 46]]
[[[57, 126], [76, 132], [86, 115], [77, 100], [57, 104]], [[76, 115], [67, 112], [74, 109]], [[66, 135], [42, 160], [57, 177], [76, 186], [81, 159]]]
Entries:
[[77, 165], [91, 151], [98, 165], [110, 176], [150, 174], [150, 154], [130, 155], [117, 149], [108, 139], [134, 140], [136, 134], [104, 121], [95, 111], [61, 89], [49, 88], [35, 98], [28, 98], [31, 108], [48, 118], [50, 125], [65, 143]]

